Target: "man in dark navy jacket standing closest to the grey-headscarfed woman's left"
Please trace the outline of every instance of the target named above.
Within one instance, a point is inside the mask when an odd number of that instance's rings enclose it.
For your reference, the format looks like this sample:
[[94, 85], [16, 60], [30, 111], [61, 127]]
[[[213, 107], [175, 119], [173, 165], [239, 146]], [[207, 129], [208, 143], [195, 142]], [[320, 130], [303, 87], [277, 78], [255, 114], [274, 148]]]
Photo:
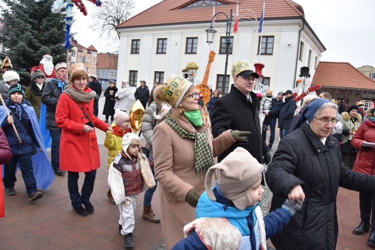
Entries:
[[296, 102], [291, 90], [284, 92], [285, 102], [278, 113], [278, 127], [280, 128], [280, 139], [289, 132], [293, 120]]

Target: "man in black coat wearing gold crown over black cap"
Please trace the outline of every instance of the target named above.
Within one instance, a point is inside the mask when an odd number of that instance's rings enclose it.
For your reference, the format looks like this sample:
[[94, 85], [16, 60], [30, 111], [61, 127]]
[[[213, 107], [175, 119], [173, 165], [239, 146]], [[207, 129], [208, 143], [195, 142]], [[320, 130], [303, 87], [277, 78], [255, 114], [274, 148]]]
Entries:
[[256, 94], [252, 92], [254, 78], [259, 75], [252, 71], [246, 60], [237, 61], [233, 65], [232, 76], [234, 84], [231, 85], [230, 92], [216, 100], [213, 106], [211, 123], [213, 137], [219, 136], [227, 129], [250, 131], [247, 135], [248, 143], [234, 143], [218, 156], [221, 161], [226, 155], [232, 152], [237, 146], [245, 148], [259, 163], [266, 164], [270, 161], [270, 153], [262, 140], [260, 134], [260, 122], [256, 110]]

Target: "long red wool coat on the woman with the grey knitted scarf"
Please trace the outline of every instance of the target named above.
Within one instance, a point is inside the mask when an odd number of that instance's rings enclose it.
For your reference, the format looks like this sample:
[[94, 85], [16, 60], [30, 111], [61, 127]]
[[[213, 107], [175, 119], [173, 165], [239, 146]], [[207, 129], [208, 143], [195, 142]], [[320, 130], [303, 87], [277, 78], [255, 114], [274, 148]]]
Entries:
[[[85, 87], [84, 92], [92, 91]], [[93, 115], [93, 99], [79, 102], [94, 126], [105, 131], [108, 124]], [[61, 130], [60, 169], [73, 172], [88, 172], [99, 168], [100, 157], [95, 130], [84, 133], [83, 125], [88, 119], [82, 110], [66, 93], [62, 93], [56, 106], [56, 124]]]

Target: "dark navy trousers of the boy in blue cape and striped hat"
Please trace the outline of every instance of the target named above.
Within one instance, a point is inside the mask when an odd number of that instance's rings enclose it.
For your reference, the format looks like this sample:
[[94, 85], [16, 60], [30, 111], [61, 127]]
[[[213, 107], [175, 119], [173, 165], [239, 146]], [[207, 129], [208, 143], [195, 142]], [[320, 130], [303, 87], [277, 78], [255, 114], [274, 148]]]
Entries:
[[27, 194], [36, 191], [36, 180], [32, 169], [31, 152], [23, 154], [13, 154], [10, 161], [4, 166], [4, 182], [5, 187], [14, 187], [15, 181], [15, 168], [19, 162], [19, 168], [21, 169], [22, 178], [26, 186]]

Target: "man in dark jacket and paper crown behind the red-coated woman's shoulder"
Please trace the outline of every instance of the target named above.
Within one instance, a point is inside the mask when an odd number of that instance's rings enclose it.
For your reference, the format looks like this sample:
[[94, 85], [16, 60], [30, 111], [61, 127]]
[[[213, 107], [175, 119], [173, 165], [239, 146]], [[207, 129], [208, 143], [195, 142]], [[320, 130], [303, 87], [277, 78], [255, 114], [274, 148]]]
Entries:
[[51, 164], [54, 172], [57, 175], [62, 175], [66, 171], [60, 169], [60, 137], [61, 128], [56, 124], [55, 114], [58, 98], [64, 90], [66, 81], [66, 63], [57, 63], [54, 66], [56, 70], [56, 79], [50, 79], [45, 83], [43, 92], [41, 94], [41, 102], [45, 105], [46, 115], [45, 123], [46, 128], [52, 139], [51, 144]]

